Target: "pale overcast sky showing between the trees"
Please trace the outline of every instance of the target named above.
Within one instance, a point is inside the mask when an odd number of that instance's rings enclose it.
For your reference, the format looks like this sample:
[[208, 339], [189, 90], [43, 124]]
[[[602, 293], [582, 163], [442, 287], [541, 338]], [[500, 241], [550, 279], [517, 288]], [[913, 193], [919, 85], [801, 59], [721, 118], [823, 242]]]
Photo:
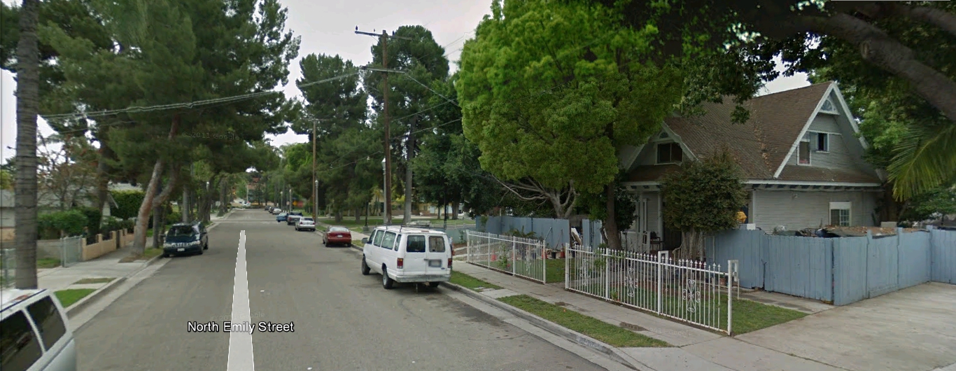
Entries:
[[[13, 0], [3, 0], [10, 4]], [[372, 60], [371, 47], [376, 38], [355, 33], [359, 31], [389, 32], [403, 25], [423, 25], [445, 47], [449, 60], [458, 60], [465, 40], [474, 36], [474, 29], [482, 17], [490, 12], [490, 0], [403, 0], [385, 2], [333, 1], [333, 0], [281, 0], [289, 9], [286, 26], [302, 36], [299, 57], [309, 54], [342, 55], [356, 65]], [[452, 65], [454, 68], [454, 65]], [[289, 84], [283, 88], [288, 97], [299, 96], [294, 81], [299, 74], [298, 59], [290, 66]], [[806, 75], [781, 77], [771, 81], [765, 93], [776, 93], [807, 86]], [[13, 92], [16, 83], [10, 72], [3, 71], [0, 80], [0, 144], [2, 158], [15, 154], [16, 107]], [[44, 120], [39, 122], [42, 135], [50, 135], [53, 129]], [[273, 144], [308, 142], [306, 136], [292, 131], [279, 136], [268, 136]]]

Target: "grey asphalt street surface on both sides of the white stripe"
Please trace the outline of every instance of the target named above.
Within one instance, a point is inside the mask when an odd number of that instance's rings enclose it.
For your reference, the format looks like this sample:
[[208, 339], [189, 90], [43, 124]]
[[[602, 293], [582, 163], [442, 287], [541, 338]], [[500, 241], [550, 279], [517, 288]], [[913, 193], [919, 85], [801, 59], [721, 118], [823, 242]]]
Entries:
[[359, 251], [326, 248], [264, 210], [219, 224], [205, 254], [172, 258], [76, 332], [79, 370], [227, 369], [229, 334], [187, 322], [228, 320], [241, 230], [252, 320], [294, 323], [253, 333], [257, 370], [602, 369], [438, 291], [385, 291], [359, 273]]

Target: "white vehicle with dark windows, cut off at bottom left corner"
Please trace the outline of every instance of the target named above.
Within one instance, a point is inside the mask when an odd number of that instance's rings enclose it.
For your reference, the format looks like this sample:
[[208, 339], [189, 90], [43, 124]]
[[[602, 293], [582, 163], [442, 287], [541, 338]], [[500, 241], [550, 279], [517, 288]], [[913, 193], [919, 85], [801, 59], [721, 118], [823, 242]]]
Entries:
[[0, 370], [76, 371], [76, 341], [49, 290], [0, 291]]

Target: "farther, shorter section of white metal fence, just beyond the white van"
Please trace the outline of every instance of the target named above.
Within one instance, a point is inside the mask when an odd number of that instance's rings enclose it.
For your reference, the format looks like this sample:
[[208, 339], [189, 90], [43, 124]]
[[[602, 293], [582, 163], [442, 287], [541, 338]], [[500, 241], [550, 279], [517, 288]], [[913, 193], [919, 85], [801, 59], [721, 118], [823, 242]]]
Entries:
[[474, 230], [467, 230], [466, 237], [468, 263], [545, 282], [547, 250], [543, 241]]

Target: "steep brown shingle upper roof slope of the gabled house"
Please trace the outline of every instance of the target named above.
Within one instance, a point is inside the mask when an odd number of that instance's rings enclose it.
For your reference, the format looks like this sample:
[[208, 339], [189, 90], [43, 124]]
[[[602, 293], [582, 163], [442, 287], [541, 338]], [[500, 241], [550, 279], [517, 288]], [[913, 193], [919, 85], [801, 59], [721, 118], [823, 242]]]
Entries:
[[706, 114], [664, 120], [695, 156], [708, 156], [727, 144], [749, 179], [772, 179], [831, 82], [752, 98], [744, 106], [750, 120], [731, 123], [734, 104], [704, 103]]

